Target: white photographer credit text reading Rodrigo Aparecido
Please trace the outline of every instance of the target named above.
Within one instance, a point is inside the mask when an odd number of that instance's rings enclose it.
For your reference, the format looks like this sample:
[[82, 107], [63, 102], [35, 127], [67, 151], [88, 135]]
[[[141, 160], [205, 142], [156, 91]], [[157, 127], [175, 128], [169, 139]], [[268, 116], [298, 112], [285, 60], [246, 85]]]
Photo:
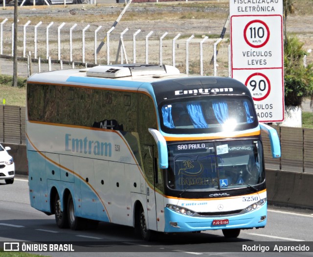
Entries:
[[310, 252], [310, 246], [305, 244], [298, 244], [298, 245], [286, 245], [286, 243], [283, 244], [277, 244], [277, 243], [271, 243], [267, 245], [246, 245], [243, 244], [242, 251], [243, 252]]

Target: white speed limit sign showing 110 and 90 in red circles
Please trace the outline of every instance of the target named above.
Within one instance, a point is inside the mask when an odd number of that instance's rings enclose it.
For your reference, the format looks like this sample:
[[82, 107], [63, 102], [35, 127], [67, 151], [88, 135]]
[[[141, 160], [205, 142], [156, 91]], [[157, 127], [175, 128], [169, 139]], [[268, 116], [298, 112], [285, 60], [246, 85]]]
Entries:
[[284, 120], [283, 0], [229, 0], [231, 76], [261, 122]]

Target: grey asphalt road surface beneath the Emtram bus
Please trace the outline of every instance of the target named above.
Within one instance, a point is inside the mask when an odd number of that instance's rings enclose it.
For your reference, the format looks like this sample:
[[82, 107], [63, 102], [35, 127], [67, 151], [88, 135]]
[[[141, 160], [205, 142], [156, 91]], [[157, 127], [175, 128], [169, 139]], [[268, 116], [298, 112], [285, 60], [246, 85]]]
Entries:
[[[96, 230], [71, 231], [59, 229], [54, 216], [47, 216], [29, 204], [26, 179], [16, 178], [13, 185], [0, 181], [0, 242], [32, 241], [63, 242], [82, 246], [93, 244], [81, 251], [88, 256], [146, 256], [187, 257], [207, 255], [219, 257], [251, 256], [251, 253], [230, 253], [244, 244], [277, 245], [310, 244], [311, 252], [259, 253], [258, 256], [313, 256], [313, 210], [281, 209], [269, 207], [265, 229], [242, 231], [235, 240], [225, 239], [221, 231], [197, 234], [159, 234], [154, 242], [142, 242], [134, 229], [109, 223], [100, 223]], [[101, 251], [101, 252], [93, 252]], [[213, 251], [213, 252], [210, 252]], [[82, 256], [86, 253], [44, 253], [48, 256]], [[255, 254], [253, 254], [255, 255]]]

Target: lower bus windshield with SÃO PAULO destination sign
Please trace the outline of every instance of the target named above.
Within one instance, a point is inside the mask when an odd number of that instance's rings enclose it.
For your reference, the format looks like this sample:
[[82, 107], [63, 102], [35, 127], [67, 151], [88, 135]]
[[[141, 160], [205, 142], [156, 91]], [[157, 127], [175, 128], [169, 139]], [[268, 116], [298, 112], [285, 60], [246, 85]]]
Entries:
[[167, 186], [176, 190], [253, 187], [265, 180], [259, 140], [169, 145]]

